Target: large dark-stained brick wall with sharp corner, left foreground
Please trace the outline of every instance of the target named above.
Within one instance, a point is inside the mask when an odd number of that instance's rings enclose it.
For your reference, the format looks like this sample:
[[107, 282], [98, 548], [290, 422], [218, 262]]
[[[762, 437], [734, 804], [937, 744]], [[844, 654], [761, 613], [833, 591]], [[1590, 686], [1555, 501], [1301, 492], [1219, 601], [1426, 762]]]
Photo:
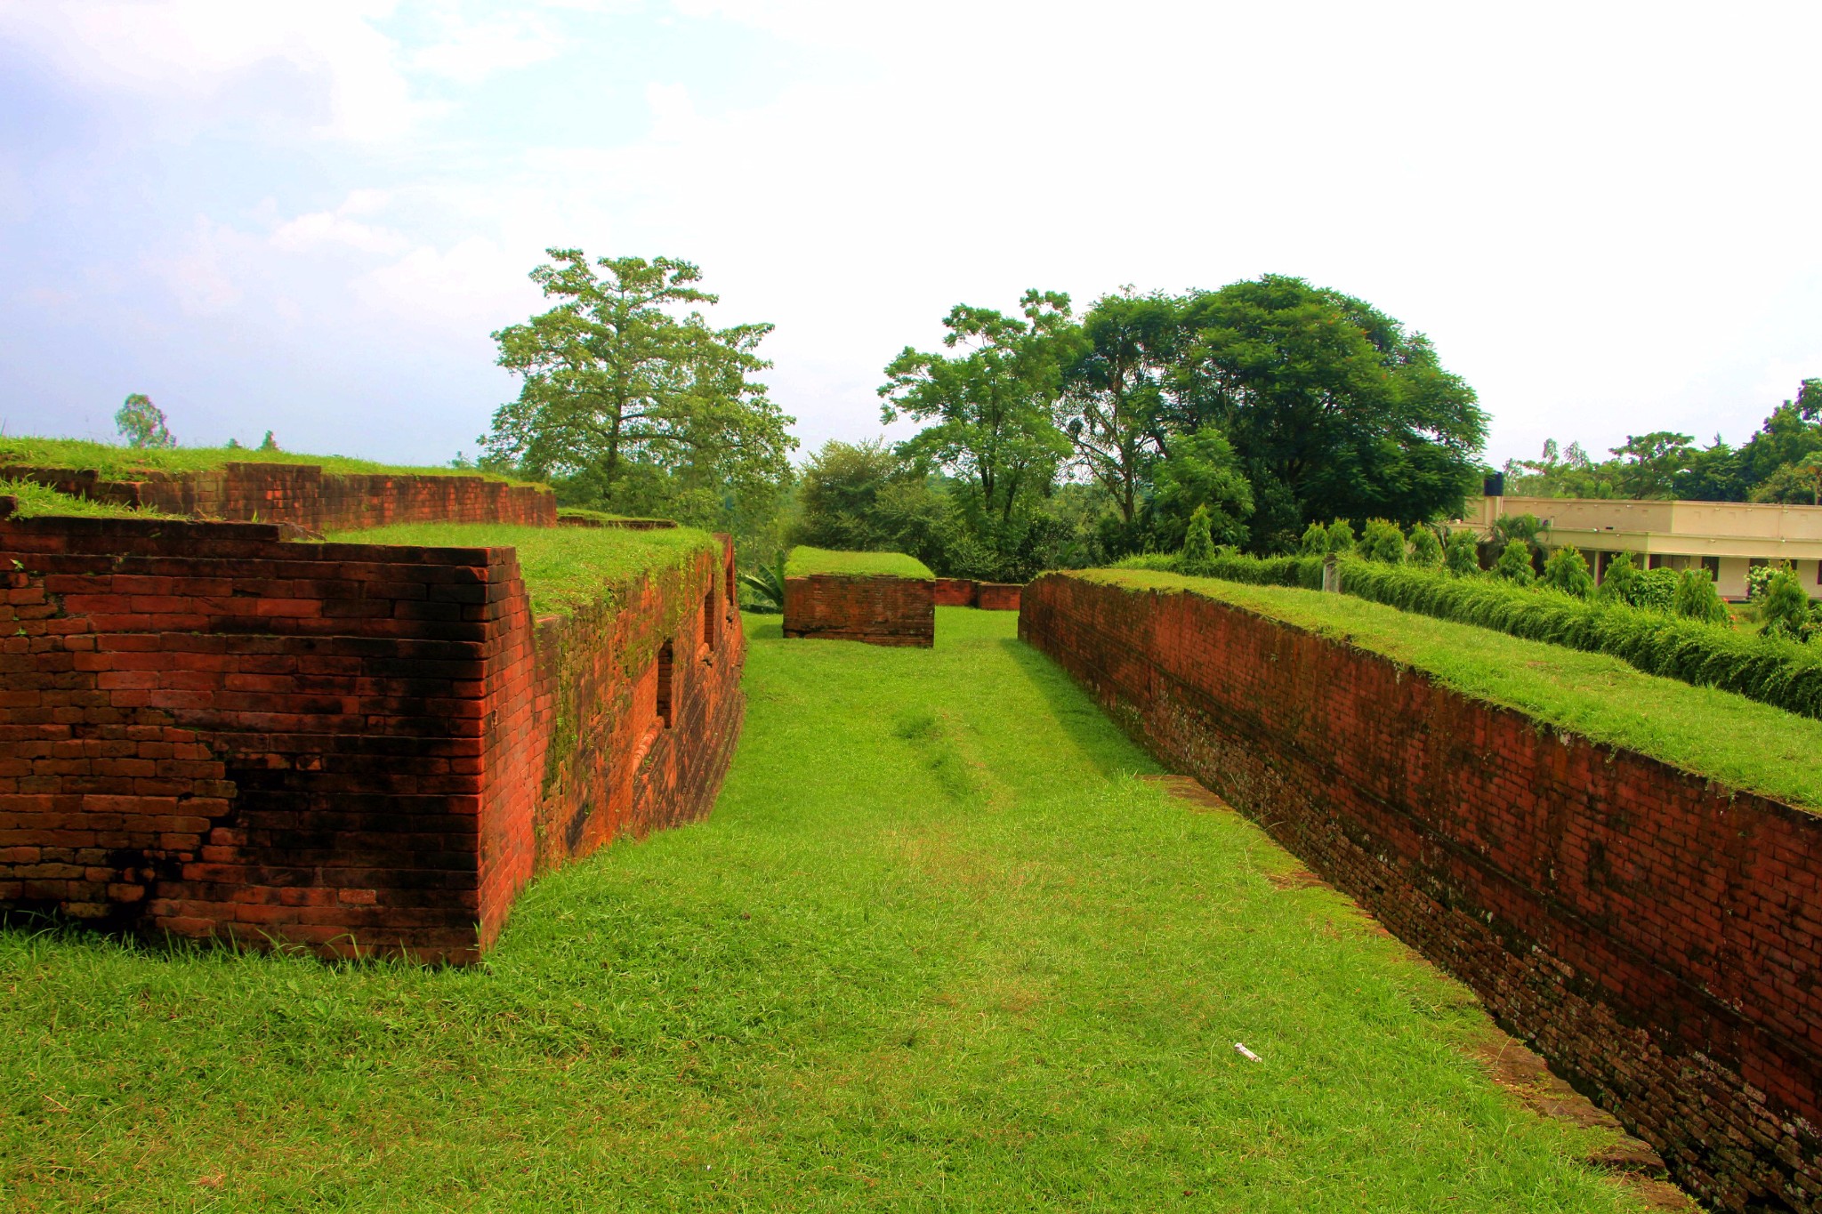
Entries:
[[[610, 834], [539, 841], [550, 739], [570, 737], [554, 706], [605, 712], [565, 690], [561, 663], [610, 666], [585, 650], [665, 621], [692, 646], [729, 568], [705, 555], [563, 635], [530, 621], [510, 548], [4, 521], [0, 912], [474, 959], [539, 861]], [[545, 648], [558, 668], [539, 666]], [[712, 650], [720, 679], [676, 679], [680, 728], [650, 748], [616, 828], [709, 808], [740, 655], [736, 617]], [[696, 724], [712, 730], [685, 737]], [[552, 763], [612, 766], [619, 735], [592, 737]]]

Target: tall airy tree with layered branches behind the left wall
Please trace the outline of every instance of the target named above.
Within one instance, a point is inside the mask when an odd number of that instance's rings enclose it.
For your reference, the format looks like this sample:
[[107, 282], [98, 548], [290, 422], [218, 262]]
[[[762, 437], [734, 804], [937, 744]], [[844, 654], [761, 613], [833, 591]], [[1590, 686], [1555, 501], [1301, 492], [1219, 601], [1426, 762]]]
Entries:
[[794, 419], [752, 379], [771, 366], [756, 348], [773, 326], [711, 328], [696, 308], [720, 300], [691, 262], [547, 253], [530, 277], [559, 302], [494, 333], [499, 366], [525, 382], [481, 437], [490, 460], [579, 477], [605, 504], [654, 481], [720, 497], [789, 479]]

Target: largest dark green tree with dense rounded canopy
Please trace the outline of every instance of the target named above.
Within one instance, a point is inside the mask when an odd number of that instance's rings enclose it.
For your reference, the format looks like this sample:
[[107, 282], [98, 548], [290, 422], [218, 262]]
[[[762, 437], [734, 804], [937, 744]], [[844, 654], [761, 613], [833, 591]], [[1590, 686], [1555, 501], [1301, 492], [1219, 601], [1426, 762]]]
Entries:
[[1281, 275], [1193, 295], [1181, 324], [1177, 428], [1217, 426], [1255, 497], [1274, 482], [1295, 502], [1288, 533], [1254, 528], [1255, 550], [1294, 544], [1308, 519], [1421, 522], [1461, 508], [1487, 417], [1421, 333]]

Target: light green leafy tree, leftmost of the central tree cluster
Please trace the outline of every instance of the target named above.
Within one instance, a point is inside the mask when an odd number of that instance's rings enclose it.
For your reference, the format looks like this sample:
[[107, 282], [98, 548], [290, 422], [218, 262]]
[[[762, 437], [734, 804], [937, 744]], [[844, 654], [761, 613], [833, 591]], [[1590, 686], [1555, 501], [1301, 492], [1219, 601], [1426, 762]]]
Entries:
[[927, 422], [900, 451], [967, 482], [988, 521], [1009, 522], [1022, 493], [1044, 493], [1070, 455], [1053, 406], [1079, 340], [1070, 297], [1026, 291], [1022, 320], [957, 304], [942, 344], [960, 353], [906, 346], [885, 368], [880, 419]]

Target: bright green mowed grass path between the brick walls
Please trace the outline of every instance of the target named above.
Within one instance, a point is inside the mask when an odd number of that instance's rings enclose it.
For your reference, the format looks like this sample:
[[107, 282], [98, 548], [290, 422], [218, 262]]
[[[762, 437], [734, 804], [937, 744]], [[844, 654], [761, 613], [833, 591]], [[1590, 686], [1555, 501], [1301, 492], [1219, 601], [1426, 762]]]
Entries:
[[747, 626], [712, 819], [537, 881], [486, 966], [0, 934], [0, 1207], [1633, 1209], [1011, 613]]

